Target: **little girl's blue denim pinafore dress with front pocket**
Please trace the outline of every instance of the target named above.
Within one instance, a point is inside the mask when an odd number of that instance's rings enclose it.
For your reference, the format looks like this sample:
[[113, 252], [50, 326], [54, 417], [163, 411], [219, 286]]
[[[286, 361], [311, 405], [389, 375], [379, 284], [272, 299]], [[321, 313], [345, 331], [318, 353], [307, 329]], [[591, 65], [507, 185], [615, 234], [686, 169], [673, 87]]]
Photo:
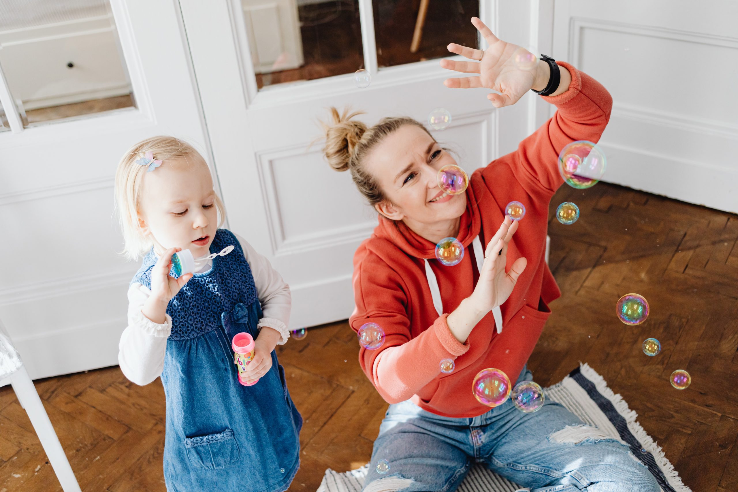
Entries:
[[[162, 372], [167, 398], [164, 477], [167, 490], [285, 491], [300, 464], [300, 412], [287, 392], [283, 367], [251, 387], [238, 383], [231, 340], [258, 336], [261, 304], [238, 240], [218, 229], [213, 259], [169, 302], [172, 332]], [[131, 283], [151, 288], [153, 250]]]

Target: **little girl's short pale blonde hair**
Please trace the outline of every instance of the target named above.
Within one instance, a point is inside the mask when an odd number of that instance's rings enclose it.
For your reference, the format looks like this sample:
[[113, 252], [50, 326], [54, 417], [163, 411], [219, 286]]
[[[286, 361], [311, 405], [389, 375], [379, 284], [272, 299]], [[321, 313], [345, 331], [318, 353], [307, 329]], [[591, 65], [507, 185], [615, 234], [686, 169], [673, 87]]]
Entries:
[[[154, 159], [166, 165], [168, 160], [184, 159], [207, 166], [205, 159], [190, 144], [173, 136], [152, 136], [129, 148], [118, 163], [115, 172], [115, 208], [123, 231], [124, 246], [121, 254], [128, 260], [137, 260], [151, 249], [153, 241], [147, 238], [139, 226], [139, 205], [141, 185], [148, 166], [136, 164], [145, 153], [154, 153]], [[152, 171], [156, 173], [156, 170]], [[226, 210], [221, 198], [215, 195], [215, 208], [218, 210], [218, 227], [225, 221]]]

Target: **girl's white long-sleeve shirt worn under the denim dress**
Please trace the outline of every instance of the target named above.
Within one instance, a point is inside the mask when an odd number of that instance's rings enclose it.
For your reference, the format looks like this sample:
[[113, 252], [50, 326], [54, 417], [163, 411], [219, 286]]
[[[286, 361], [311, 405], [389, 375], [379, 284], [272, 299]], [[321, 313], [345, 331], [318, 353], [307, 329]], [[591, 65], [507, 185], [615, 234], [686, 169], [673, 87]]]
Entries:
[[[289, 338], [287, 324], [292, 308], [289, 285], [272, 268], [266, 257], [256, 252], [241, 236], [235, 237], [241, 243], [244, 257], [249, 262], [261, 302], [263, 317], [259, 319], [257, 326], [259, 329], [266, 326], [279, 331], [282, 338], [277, 344], [284, 344]], [[210, 264], [205, 265], [199, 272], [208, 269]], [[139, 283], [133, 283], [128, 288], [128, 327], [123, 330], [118, 344], [120, 370], [126, 378], [140, 386], [151, 383], [162, 374], [167, 339], [172, 330], [172, 319], [168, 314], [165, 315], [165, 322], [159, 324], [141, 312], [150, 295], [151, 291]]]

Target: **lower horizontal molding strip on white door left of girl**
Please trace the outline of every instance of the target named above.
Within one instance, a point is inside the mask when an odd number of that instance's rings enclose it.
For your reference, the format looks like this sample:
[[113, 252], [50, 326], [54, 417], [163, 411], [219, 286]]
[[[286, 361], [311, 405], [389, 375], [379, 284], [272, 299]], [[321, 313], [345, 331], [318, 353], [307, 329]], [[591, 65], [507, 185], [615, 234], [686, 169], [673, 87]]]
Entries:
[[14, 285], [12, 288], [0, 290], [0, 306], [127, 285], [135, 273], [132, 270], [114, 271]]

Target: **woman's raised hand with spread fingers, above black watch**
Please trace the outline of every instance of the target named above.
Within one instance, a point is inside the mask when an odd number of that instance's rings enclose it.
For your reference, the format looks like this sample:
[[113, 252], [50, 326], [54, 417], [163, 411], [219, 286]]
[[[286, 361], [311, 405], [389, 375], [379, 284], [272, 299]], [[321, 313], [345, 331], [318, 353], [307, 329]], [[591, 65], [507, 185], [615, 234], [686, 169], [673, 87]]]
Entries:
[[[486, 87], [498, 91], [500, 94], [487, 95], [487, 99], [492, 101], [495, 108], [517, 103], [520, 97], [534, 86], [537, 78], [541, 78], [538, 60], [531, 63], [529, 69], [521, 68], [516, 63], [516, 56], [528, 55], [527, 50], [517, 44], [498, 39], [479, 18], [472, 17], [472, 24], [486, 39], [489, 48], [481, 50], [455, 43], [449, 44], [449, 52], [476, 61], [441, 60], [441, 66], [444, 69], [479, 76], [446, 79], [444, 84], [452, 89]], [[548, 77], [546, 80], [548, 81]]]

